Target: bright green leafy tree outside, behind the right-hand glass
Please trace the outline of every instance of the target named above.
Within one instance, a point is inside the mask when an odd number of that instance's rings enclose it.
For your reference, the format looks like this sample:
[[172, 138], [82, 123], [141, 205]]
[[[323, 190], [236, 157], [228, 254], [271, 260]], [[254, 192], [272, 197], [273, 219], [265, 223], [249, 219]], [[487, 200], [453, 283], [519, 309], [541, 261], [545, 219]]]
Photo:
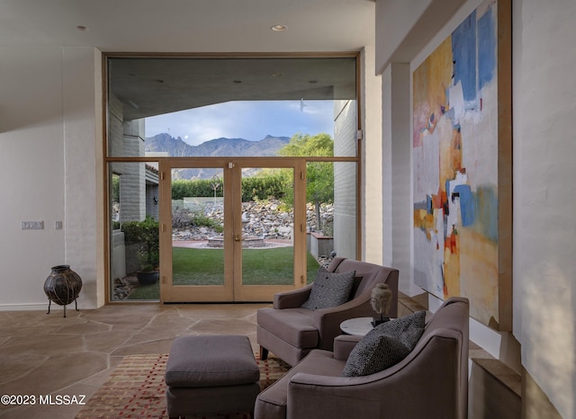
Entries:
[[[334, 140], [326, 133], [315, 136], [296, 134], [282, 147], [280, 156], [334, 156]], [[292, 193], [285, 196], [292, 197]], [[309, 162], [306, 165], [306, 201], [313, 202], [318, 229], [321, 229], [320, 204], [334, 200], [334, 164], [332, 162]]]

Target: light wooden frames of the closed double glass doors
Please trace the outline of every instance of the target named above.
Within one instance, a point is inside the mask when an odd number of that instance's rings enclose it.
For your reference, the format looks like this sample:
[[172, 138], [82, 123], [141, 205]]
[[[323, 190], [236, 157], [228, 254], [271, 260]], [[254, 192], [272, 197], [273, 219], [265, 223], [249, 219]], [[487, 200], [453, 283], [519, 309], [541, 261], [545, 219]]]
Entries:
[[[222, 286], [172, 285], [171, 169], [175, 167], [221, 167], [224, 171], [224, 284]], [[294, 275], [291, 285], [243, 285], [241, 242], [234, 241], [241, 226], [242, 167], [290, 167], [294, 169], [293, 243]], [[230, 172], [228, 172], [230, 171]], [[295, 290], [306, 283], [306, 161], [298, 157], [169, 157], [159, 161], [160, 302], [185, 302], [189, 292], [201, 295], [198, 302], [271, 301], [276, 292]], [[241, 233], [241, 232], [240, 232]], [[238, 274], [238, 272], [240, 272]], [[177, 287], [177, 290], [174, 289]], [[194, 299], [195, 300], [195, 299]]]

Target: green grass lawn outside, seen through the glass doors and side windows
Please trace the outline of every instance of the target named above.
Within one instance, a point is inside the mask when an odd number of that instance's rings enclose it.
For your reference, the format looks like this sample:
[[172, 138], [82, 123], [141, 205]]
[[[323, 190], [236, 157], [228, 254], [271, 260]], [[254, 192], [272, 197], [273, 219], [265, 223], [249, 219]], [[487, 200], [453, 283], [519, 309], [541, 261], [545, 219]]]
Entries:
[[[307, 254], [308, 282], [314, 281], [319, 263]], [[221, 249], [172, 249], [173, 283], [175, 285], [221, 285], [224, 260]], [[242, 281], [245, 285], [287, 285], [293, 283], [293, 247], [244, 249]], [[159, 299], [158, 283], [140, 286], [129, 299]]]

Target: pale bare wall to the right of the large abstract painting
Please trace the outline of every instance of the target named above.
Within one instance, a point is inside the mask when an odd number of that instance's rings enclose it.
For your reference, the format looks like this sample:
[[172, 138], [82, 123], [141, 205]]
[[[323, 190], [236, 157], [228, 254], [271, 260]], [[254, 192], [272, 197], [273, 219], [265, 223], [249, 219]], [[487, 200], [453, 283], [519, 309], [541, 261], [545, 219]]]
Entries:
[[527, 374], [576, 417], [576, 3], [513, 11], [514, 334]]

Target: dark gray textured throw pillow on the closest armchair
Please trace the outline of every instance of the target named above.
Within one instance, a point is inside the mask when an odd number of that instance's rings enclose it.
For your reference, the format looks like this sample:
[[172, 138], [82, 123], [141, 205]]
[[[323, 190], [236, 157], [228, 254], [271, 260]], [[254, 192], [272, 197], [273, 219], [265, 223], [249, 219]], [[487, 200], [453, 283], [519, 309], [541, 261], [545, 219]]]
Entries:
[[402, 361], [424, 333], [425, 321], [426, 312], [418, 311], [374, 327], [350, 352], [342, 377], [374, 374]]

